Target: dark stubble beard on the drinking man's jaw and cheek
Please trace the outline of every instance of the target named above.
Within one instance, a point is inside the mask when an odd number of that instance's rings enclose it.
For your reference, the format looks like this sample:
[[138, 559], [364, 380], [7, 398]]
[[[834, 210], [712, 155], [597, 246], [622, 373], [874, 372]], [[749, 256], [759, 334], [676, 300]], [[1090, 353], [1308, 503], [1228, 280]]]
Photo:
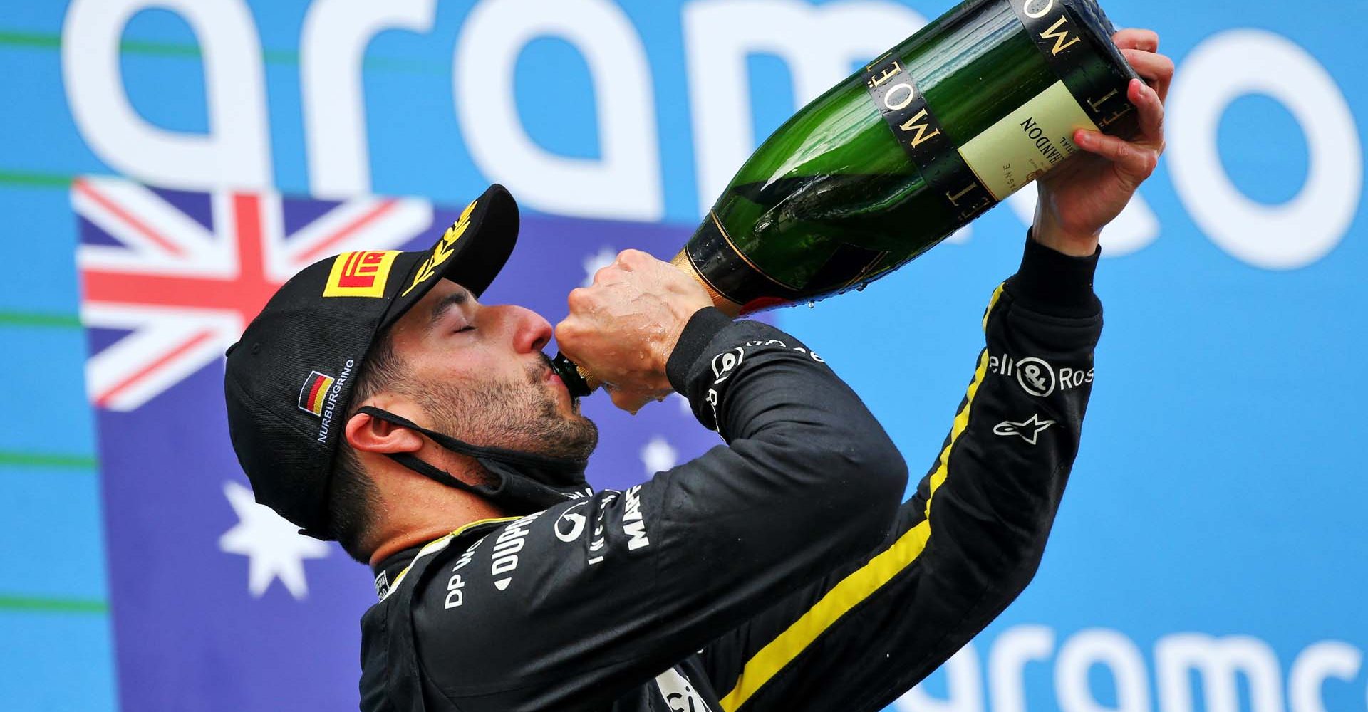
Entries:
[[570, 414], [561, 411], [546, 369], [539, 362], [528, 365], [525, 379], [425, 384], [412, 396], [432, 429], [473, 446], [588, 459], [598, 446], [598, 426], [580, 414], [577, 402]]

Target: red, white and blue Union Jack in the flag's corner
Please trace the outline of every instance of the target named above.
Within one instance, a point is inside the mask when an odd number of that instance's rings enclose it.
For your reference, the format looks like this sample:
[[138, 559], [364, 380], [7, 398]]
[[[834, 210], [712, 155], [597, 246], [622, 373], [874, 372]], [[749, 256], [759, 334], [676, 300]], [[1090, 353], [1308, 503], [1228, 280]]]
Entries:
[[223, 358], [300, 269], [347, 250], [402, 247], [434, 220], [424, 198], [186, 193], [93, 176], [71, 184], [71, 205], [81, 320], [122, 332], [92, 346], [86, 362], [90, 400], [108, 410], [137, 409]]

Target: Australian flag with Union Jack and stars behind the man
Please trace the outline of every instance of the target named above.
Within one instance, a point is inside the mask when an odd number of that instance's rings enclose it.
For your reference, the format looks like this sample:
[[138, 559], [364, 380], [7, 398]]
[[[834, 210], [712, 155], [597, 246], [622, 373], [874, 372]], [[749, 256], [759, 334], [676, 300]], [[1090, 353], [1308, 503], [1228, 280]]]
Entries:
[[[372, 577], [253, 500], [228, 443], [223, 351], [298, 269], [343, 251], [427, 249], [460, 208], [94, 176], [73, 183], [71, 205], [120, 708], [356, 709]], [[554, 324], [566, 294], [617, 250], [669, 258], [689, 232], [524, 215], [513, 258], [482, 301]], [[316, 407], [334, 376], [315, 373], [282, 398]], [[636, 417], [598, 398], [584, 411], [602, 432], [590, 463], [598, 488], [629, 487], [718, 444], [679, 396]]]

